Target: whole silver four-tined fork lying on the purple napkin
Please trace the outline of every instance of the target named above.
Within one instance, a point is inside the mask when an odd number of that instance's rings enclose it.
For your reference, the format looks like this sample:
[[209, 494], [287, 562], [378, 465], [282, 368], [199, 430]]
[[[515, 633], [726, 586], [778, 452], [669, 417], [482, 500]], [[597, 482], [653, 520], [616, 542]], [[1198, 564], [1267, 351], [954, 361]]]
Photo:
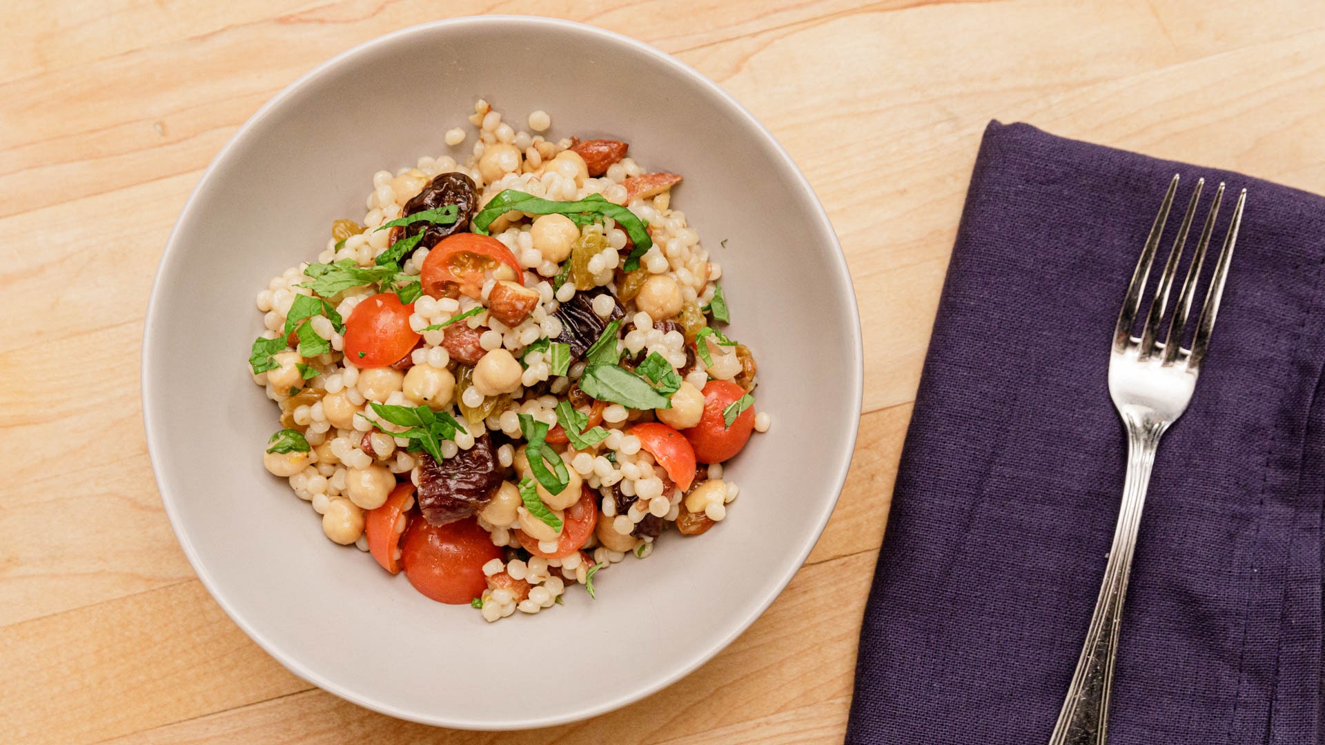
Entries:
[[1210, 236], [1215, 229], [1219, 203], [1224, 196], [1224, 184], [1219, 184], [1215, 199], [1206, 216], [1196, 253], [1187, 269], [1187, 278], [1178, 294], [1169, 331], [1161, 343], [1159, 329], [1169, 306], [1169, 293], [1173, 289], [1178, 260], [1182, 257], [1191, 229], [1204, 179], [1196, 182], [1196, 188], [1187, 201], [1187, 212], [1182, 217], [1178, 236], [1174, 239], [1169, 260], [1150, 304], [1141, 329], [1141, 338], [1132, 335], [1132, 327], [1145, 296], [1146, 277], [1154, 262], [1159, 237], [1174, 195], [1178, 192], [1178, 176], [1174, 175], [1165, 194], [1163, 204], [1150, 228], [1150, 236], [1137, 261], [1137, 269], [1128, 285], [1128, 294], [1118, 314], [1118, 326], [1113, 331], [1113, 349], [1109, 353], [1109, 396], [1128, 431], [1128, 476], [1122, 487], [1122, 508], [1118, 514], [1118, 528], [1113, 534], [1113, 547], [1109, 549], [1109, 562], [1104, 569], [1104, 586], [1090, 616], [1085, 646], [1077, 660], [1072, 685], [1059, 713], [1049, 745], [1104, 745], [1109, 737], [1109, 687], [1113, 683], [1113, 659], [1118, 648], [1118, 624], [1122, 618], [1122, 598], [1128, 591], [1128, 573], [1132, 569], [1132, 553], [1137, 544], [1137, 528], [1141, 525], [1141, 508], [1146, 500], [1146, 487], [1150, 483], [1150, 467], [1154, 464], [1159, 437], [1165, 433], [1191, 402], [1200, 374], [1200, 363], [1210, 347], [1210, 331], [1215, 326], [1219, 312], [1219, 298], [1228, 277], [1228, 262], [1232, 260], [1234, 244], [1238, 241], [1238, 228], [1242, 225], [1243, 207], [1247, 203], [1247, 190], [1238, 196], [1232, 223], [1224, 237], [1224, 247], [1215, 262], [1215, 272], [1206, 292], [1206, 302], [1196, 321], [1191, 349], [1181, 343], [1187, 329], [1191, 301], [1196, 293], [1200, 269], [1204, 264]]

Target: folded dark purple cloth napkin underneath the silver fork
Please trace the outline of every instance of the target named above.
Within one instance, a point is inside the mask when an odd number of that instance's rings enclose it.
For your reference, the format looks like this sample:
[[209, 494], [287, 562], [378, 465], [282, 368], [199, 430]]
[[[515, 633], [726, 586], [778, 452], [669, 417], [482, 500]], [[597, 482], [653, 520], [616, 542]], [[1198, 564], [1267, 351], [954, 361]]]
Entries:
[[1122, 494], [1109, 339], [1174, 172], [1169, 236], [1196, 176], [1207, 204], [1228, 183], [1216, 236], [1243, 187], [1247, 212], [1195, 396], [1159, 444], [1110, 744], [1321, 741], [1325, 200], [995, 122], [901, 457], [847, 742], [1048, 741]]

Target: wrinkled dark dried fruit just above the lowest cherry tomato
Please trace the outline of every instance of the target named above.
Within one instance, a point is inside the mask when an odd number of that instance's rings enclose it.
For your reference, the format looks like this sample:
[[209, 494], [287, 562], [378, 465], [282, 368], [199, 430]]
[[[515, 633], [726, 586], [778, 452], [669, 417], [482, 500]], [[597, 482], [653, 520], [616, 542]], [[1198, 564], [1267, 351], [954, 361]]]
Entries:
[[474, 447], [437, 463], [420, 453], [419, 512], [433, 525], [445, 525], [478, 513], [502, 483], [497, 449], [486, 432]]

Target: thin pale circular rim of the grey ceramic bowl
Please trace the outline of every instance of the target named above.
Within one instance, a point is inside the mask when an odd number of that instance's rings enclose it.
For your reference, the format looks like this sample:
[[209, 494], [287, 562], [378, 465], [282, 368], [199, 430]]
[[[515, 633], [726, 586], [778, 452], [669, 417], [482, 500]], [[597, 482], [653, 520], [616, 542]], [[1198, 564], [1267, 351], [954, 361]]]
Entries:
[[[489, 718], [464, 718], [454, 716], [439, 716], [428, 712], [407, 711], [392, 705], [390, 701], [375, 699], [368, 693], [351, 689], [341, 683], [330, 680], [322, 675], [313, 672], [306, 668], [298, 659], [288, 655], [277, 643], [268, 639], [264, 632], [248, 622], [242, 615], [240, 615], [232, 606], [227, 594], [216, 583], [216, 579], [204, 566], [201, 558], [193, 542], [189, 540], [180, 516], [176, 513], [174, 498], [168, 496], [166, 489], [166, 467], [163, 465], [163, 455], [160, 453], [162, 441], [166, 439], [164, 433], [154, 435], [152, 420], [156, 419], [158, 408], [166, 408], [164, 404], [154, 404], [154, 399], [148, 391], [154, 390], [154, 374], [150, 359], [155, 358], [158, 354], [158, 345], [152, 341], [152, 329], [155, 326], [154, 318], [156, 318], [162, 312], [162, 285], [167, 274], [174, 273], [175, 265], [182, 261], [184, 249], [180, 248], [180, 233], [187, 223], [189, 223], [192, 212], [196, 207], [200, 195], [208, 188], [209, 182], [217, 167], [224, 163], [229, 154], [236, 148], [241, 147], [248, 139], [249, 134], [257, 127], [260, 122], [266, 119], [273, 110], [282, 106], [289, 98], [297, 94], [299, 90], [310, 85], [315, 78], [325, 76], [326, 73], [339, 69], [342, 66], [348, 66], [355, 62], [358, 57], [368, 53], [379, 46], [388, 46], [398, 42], [408, 36], [429, 33], [436, 29], [462, 29], [472, 25], [506, 25], [511, 32], [527, 32], [535, 28], [556, 28], [559, 30], [570, 30], [574, 33], [580, 33], [586, 36], [592, 36], [599, 40], [607, 41], [617, 48], [624, 48], [627, 53], [643, 54], [652, 58], [656, 62], [661, 62], [669, 68], [674, 74], [686, 78], [689, 82], [708, 89], [710, 93], [716, 94], [727, 106], [737, 113], [738, 118], [747, 127], [758, 131], [772, 146], [772, 151], [776, 158], [783, 162], [783, 166], [792, 175], [791, 188], [799, 190], [804, 199], [815, 207], [815, 220], [816, 232], [828, 241], [837, 251], [831, 252], [827, 261], [827, 268], [835, 284], [841, 289], [841, 293], [836, 300], [839, 304], [844, 304], [844, 310], [847, 312], [848, 323], [853, 331], [852, 339], [853, 345], [847, 350], [848, 355], [848, 370], [849, 379], [843, 380], [845, 383], [843, 388], [851, 395], [848, 406], [851, 407], [851, 418], [847, 423], [849, 427], [848, 433], [848, 447], [844, 448], [843, 453], [831, 464], [831, 468], [825, 469], [828, 479], [825, 479], [827, 487], [832, 492], [832, 498], [825, 500], [819, 514], [814, 517], [812, 530], [807, 533], [807, 538], [802, 546], [799, 546], [799, 555], [796, 561], [788, 565], [788, 570], [778, 578], [776, 590], [768, 593], [757, 606], [746, 610], [746, 615], [741, 619], [733, 630], [716, 639], [708, 640], [706, 644], [697, 647], [697, 651], [690, 654], [689, 659], [684, 660], [682, 664], [659, 676], [656, 680], [648, 685], [641, 685], [633, 691], [621, 691], [620, 693], [611, 696], [598, 704], [587, 705], [576, 711], [568, 711], [562, 715], [553, 716], [533, 716], [533, 717], [515, 717], [509, 720], [489, 720]], [[843, 253], [841, 244], [837, 240], [837, 233], [828, 219], [823, 204], [815, 195], [810, 183], [806, 180], [804, 174], [796, 167], [791, 155], [787, 154], [782, 143], [772, 137], [772, 133], [763, 126], [741, 102], [738, 102], [731, 94], [718, 86], [716, 82], [701, 74], [698, 70], [690, 68], [685, 62], [677, 60], [676, 57], [647, 44], [640, 40], [632, 38], [629, 36], [607, 30], [599, 27], [582, 24], [576, 21], [568, 21], [563, 19], [551, 19], [545, 16], [521, 16], [521, 15], [492, 15], [492, 16], [462, 16], [454, 19], [444, 19], [437, 21], [429, 21], [424, 24], [417, 24], [412, 27], [405, 27], [394, 32], [384, 33], [370, 38], [362, 44], [358, 44], [339, 54], [326, 60], [325, 62], [317, 65], [307, 73], [299, 76], [298, 80], [282, 87], [276, 95], [273, 95], [266, 103], [264, 103], [248, 121], [240, 126], [238, 130], [227, 141], [227, 143], [217, 151], [208, 164], [207, 170], [199, 178], [197, 184], [195, 184], [188, 199], [184, 201], [184, 207], [180, 209], [179, 217], [175, 225], [171, 228], [170, 236], [166, 240], [164, 249], [162, 251], [162, 257], [159, 260], [156, 274], [152, 278], [151, 293], [147, 301], [147, 310], [143, 321], [143, 339], [142, 339], [142, 359], [140, 359], [140, 402], [143, 410], [143, 430], [147, 440], [147, 452], [152, 464], [152, 477], [156, 481], [156, 489], [162, 500], [162, 505], [166, 509], [166, 516], [170, 520], [171, 530], [175, 533], [175, 538], [179, 541], [180, 547], [184, 551], [188, 563], [192, 566], [193, 571], [197, 574], [199, 581], [207, 589], [208, 594], [216, 601], [216, 603], [225, 611], [225, 615], [231, 618], [252, 639], [261, 647], [268, 655], [281, 663], [282, 667], [289, 669], [295, 676], [302, 680], [311, 683], [313, 685], [327, 691], [341, 699], [344, 699], [356, 705], [372, 709], [375, 712], [388, 715], [396, 718], [416, 721], [420, 724], [428, 724], [435, 726], [448, 726], [456, 729], [470, 729], [470, 730], [514, 730], [514, 729], [534, 729], [543, 726], [554, 726], [559, 724], [568, 724], [575, 721], [587, 720], [607, 712], [612, 712], [621, 707], [629, 705], [640, 699], [651, 696], [673, 683], [681, 680], [682, 677], [690, 675], [698, 669], [704, 663], [713, 659], [718, 652], [725, 650], [731, 642], [741, 636], [763, 612], [768, 608], [772, 602], [782, 595], [791, 579], [800, 571], [804, 566], [806, 558], [808, 558], [810, 551], [819, 542], [819, 537], [823, 534], [824, 526], [828, 524], [833, 509], [837, 505], [837, 500], [841, 496], [843, 487], [847, 480], [847, 472], [851, 467], [851, 459], [855, 452], [856, 440], [860, 431], [860, 415], [863, 407], [864, 396], [864, 346], [861, 341], [861, 327], [860, 327], [860, 312], [856, 304], [856, 294], [851, 281], [851, 273], [847, 269], [845, 255]]]

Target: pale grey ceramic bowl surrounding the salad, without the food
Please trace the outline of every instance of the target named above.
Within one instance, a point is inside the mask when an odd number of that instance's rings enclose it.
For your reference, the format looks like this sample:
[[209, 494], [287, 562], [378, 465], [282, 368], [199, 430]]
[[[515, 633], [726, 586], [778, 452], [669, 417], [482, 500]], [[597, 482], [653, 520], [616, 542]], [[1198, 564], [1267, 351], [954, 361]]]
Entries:
[[[741, 487], [701, 538], [664, 533], [598, 575], [598, 601], [489, 624], [329, 542], [261, 455], [276, 408], [246, 372], [253, 297], [360, 217], [371, 176], [445, 152], [476, 97], [554, 137], [611, 135], [682, 174], [673, 205], [722, 262], [729, 333], [759, 362], [774, 426], [730, 465]], [[461, 146], [468, 152], [470, 139]], [[457, 152], [462, 155], [462, 152]], [[718, 243], [730, 239], [726, 248]], [[203, 175], [166, 245], [143, 338], [143, 416], [162, 501], [199, 578], [264, 650], [350, 701], [420, 722], [545, 726], [676, 681], [735, 639], [800, 567], [847, 475], [860, 323], [832, 225], [787, 154], [713, 82], [572, 23], [473, 17], [358, 46], [281, 91]], [[543, 685], [515, 677], [541, 661]], [[517, 695], [518, 692], [518, 695]]]

